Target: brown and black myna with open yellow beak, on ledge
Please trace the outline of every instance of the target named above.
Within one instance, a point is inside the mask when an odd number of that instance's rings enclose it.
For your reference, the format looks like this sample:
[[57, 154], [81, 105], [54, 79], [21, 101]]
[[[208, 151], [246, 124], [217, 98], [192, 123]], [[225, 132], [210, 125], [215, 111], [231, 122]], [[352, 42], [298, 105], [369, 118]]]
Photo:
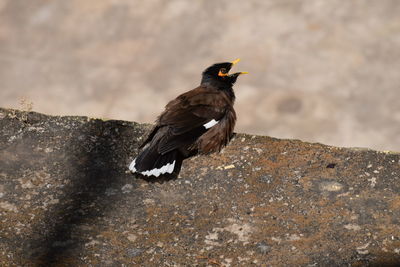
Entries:
[[182, 161], [196, 154], [220, 151], [236, 123], [233, 85], [248, 72], [229, 74], [240, 59], [211, 65], [200, 85], [170, 101], [129, 165], [143, 176], [179, 174]]

